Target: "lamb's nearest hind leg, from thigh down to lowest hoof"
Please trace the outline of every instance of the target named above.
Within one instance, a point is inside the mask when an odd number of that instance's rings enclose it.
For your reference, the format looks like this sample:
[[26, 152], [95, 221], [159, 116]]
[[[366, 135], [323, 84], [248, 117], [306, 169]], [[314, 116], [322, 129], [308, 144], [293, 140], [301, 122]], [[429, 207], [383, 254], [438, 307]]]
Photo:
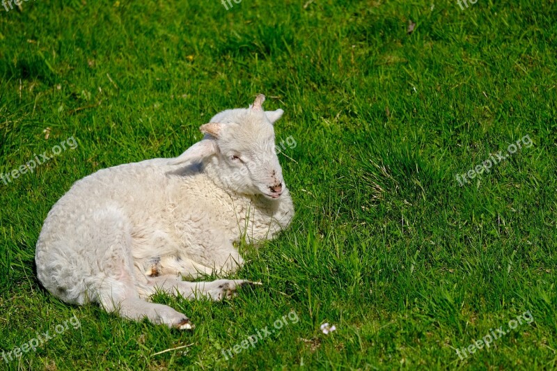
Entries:
[[132, 274], [132, 238], [125, 216], [118, 210], [108, 209], [95, 213], [92, 219], [97, 230], [102, 231], [90, 241], [95, 244], [91, 247], [97, 251], [99, 270], [88, 285], [94, 301], [108, 312], [127, 319], [147, 317], [155, 324], [192, 329], [194, 326], [182, 313], [139, 297], [138, 282]]

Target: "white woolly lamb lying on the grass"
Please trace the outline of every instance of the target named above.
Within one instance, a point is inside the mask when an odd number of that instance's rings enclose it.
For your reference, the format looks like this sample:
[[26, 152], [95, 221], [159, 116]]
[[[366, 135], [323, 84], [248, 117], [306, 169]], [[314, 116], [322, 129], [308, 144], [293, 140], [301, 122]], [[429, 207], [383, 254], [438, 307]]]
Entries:
[[231, 274], [244, 260], [234, 244], [272, 239], [294, 216], [274, 145], [282, 109], [228, 109], [200, 127], [203, 139], [174, 159], [102, 169], [52, 207], [36, 246], [42, 285], [66, 303], [171, 328], [189, 318], [149, 297], [233, 297], [246, 280], [187, 282]]

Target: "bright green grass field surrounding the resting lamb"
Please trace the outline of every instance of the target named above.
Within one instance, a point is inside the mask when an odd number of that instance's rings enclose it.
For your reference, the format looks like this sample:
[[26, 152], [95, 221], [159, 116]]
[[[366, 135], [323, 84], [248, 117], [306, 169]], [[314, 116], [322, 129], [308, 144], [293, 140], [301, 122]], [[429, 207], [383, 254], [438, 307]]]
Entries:
[[[233, 5], [0, 7], [0, 172], [78, 143], [0, 181], [0, 352], [81, 322], [0, 369], [557, 367], [556, 1]], [[281, 156], [292, 226], [245, 246], [235, 276], [263, 287], [219, 303], [157, 295], [191, 332], [40, 287], [36, 240], [73, 182], [174, 157], [214, 113], [258, 93], [285, 109], [277, 139], [297, 142]], [[457, 173], [526, 135], [530, 148], [460, 187]], [[531, 324], [464, 361], [455, 353], [526, 310]], [[290, 311], [297, 323], [224, 358]], [[337, 330], [325, 335], [324, 322]]]

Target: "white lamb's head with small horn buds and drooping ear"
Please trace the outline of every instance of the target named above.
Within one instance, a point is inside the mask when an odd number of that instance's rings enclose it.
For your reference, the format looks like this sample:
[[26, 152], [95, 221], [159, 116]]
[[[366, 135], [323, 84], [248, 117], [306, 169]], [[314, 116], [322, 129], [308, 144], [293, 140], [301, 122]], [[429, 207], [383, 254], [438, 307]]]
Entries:
[[258, 95], [248, 109], [217, 113], [200, 127], [205, 133], [203, 140], [170, 164], [202, 162], [207, 174], [228, 191], [279, 198], [285, 184], [273, 125], [283, 110], [264, 111], [264, 101], [265, 95]]

